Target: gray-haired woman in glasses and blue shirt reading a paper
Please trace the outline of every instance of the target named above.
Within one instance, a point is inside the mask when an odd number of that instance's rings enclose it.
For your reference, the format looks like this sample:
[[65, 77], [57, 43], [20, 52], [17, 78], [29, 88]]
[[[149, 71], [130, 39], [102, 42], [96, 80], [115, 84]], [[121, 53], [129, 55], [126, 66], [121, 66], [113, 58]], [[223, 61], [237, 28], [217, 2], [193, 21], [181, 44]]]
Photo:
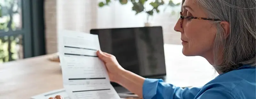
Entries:
[[111, 81], [144, 99], [255, 99], [256, 1], [183, 0], [174, 30], [182, 53], [204, 57], [220, 74], [200, 88], [180, 88], [143, 78], [98, 51]]

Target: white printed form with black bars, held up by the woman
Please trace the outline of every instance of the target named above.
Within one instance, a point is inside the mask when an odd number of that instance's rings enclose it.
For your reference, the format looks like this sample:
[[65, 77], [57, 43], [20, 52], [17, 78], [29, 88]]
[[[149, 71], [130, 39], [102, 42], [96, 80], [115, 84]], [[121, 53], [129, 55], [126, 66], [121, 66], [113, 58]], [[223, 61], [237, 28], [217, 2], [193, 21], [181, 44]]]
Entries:
[[71, 99], [120, 99], [98, 58], [98, 35], [59, 31], [63, 86]]

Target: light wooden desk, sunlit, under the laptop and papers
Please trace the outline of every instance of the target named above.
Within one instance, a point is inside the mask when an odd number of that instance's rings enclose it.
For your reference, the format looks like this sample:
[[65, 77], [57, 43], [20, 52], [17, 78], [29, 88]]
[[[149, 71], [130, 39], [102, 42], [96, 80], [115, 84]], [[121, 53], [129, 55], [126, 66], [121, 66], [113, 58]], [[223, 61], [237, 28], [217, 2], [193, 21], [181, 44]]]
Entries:
[[[211, 65], [201, 57], [186, 57], [180, 45], [165, 45], [167, 82], [176, 86], [201, 86], [214, 78]], [[30, 99], [61, 89], [61, 67], [44, 55], [0, 64], [0, 99]]]

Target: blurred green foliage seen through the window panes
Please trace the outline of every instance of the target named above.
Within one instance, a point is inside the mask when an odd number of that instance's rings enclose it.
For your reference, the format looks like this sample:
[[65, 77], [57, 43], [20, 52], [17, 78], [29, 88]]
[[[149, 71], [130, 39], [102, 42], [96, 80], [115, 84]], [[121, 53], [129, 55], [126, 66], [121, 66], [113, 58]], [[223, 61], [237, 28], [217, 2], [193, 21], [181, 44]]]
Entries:
[[14, 15], [17, 14], [21, 16], [21, 0], [3, 0], [0, 2], [0, 63], [22, 57], [22, 55], [18, 55], [20, 52], [17, 51], [18, 48], [22, 49], [22, 35], [1, 35], [3, 32], [20, 29], [13, 19], [15, 18]]

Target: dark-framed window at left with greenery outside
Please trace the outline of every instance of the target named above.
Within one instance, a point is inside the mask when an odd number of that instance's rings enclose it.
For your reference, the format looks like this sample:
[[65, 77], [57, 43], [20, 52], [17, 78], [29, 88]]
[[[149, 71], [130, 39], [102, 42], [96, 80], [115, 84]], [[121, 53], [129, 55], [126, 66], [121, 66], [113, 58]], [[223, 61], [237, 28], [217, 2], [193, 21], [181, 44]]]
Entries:
[[[39, 33], [44, 33], [38, 32], [38, 26], [43, 26], [43, 18], [41, 21], [33, 21], [39, 18], [39, 12], [43, 13], [38, 6], [39, 2], [36, 2], [0, 0], [0, 63], [44, 54], [42, 49], [38, 50], [44, 48], [44, 45], [35, 46], [44, 42], [41, 38], [37, 39]], [[34, 13], [35, 10], [38, 12]]]

